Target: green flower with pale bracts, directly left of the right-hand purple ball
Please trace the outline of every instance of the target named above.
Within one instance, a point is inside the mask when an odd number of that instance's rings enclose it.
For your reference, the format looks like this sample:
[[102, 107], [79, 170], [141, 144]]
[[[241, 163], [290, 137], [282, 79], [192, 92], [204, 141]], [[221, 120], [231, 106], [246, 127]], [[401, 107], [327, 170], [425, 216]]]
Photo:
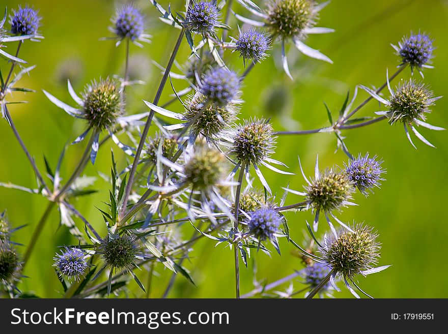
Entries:
[[327, 223], [334, 235], [336, 235], [336, 230], [333, 223], [330, 221], [329, 216], [333, 217], [339, 224], [350, 230], [350, 228], [336, 218], [332, 212], [340, 210], [347, 205], [356, 205], [355, 203], [350, 202], [354, 192], [352, 180], [344, 173], [344, 171], [337, 171], [332, 168], [324, 171], [319, 170], [319, 156], [316, 158], [315, 177], [311, 180], [306, 178], [303, 173], [300, 158], [299, 165], [303, 178], [307, 183], [307, 186], [304, 186], [305, 191], [299, 192], [288, 188], [284, 189], [287, 192], [304, 196], [306, 209], [311, 207], [312, 211], [316, 212], [313, 222], [314, 231], [317, 231], [321, 212], [324, 213]]

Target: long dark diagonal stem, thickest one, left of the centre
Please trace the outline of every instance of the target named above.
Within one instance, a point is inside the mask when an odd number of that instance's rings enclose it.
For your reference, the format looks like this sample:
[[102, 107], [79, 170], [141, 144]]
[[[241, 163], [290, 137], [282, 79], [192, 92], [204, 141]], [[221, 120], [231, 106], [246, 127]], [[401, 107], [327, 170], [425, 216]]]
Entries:
[[[182, 28], [181, 32], [179, 34], [179, 37], [177, 39], [176, 45], [174, 46], [174, 50], [171, 53], [171, 57], [168, 62], [168, 65], [166, 66], [165, 72], [163, 73], [162, 81], [160, 82], [159, 88], [158, 88], [156, 96], [154, 98], [153, 104], [155, 104], [155, 105], [157, 105], [159, 103], [160, 96], [162, 95], [163, 87], [165, 86], [166, 80], [170, 74], [171, 68], [174, 63], [174, 59], [176, 58], [177, 51], [180, 48], [180, 44], [182, 42], [184, 33], [185, 33], [185, 29]], [[140, 138], [140, 142], [138, 143], [137, 151], [135, 152], [134, 162], [132, 163], [131, 171], [129, 172], [129, 179], [128, 179], [128, 183], [126, 185], [126, 190], [125, 190], [125, 195], [124, 195], [124, 199], [123, 199], [123, 205], [121, 208], [120, 216], [123, 216], [123, 214], [126, 210], [129, 195], [131, 193], [132, 185], [134, 183], [134, 176], [135, 176], [135, 171], [137, 169], [138, 160], [140, 158], [140, 154], [142, 153], [143, 145], [145, 144], [145, 140], [148, 135], [149, 127], [151, 126], [153, 116], [154, 116], [154, 110], [151, 110], [151, 112], [149, 113], [148, 119], [146, 120], [145, 128], [143, 129], [143, 133]]]

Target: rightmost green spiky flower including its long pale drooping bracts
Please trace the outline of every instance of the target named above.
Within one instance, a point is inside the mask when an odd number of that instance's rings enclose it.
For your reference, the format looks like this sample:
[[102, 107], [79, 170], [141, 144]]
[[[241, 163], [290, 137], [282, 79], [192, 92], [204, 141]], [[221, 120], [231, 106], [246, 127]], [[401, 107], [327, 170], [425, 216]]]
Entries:
[[434, 93], [429, 90], [429, 87], [423, 83], [416, 82], [415, 80], [402, 81], [393, 90], [390, 87], [388, 75], [387, 77], [387, 87], [389, 88], [390, 98], [386, 100], [380, 97], [374, 92], [374, 90], [360, 86], [362, 89], [366, 90], [374, 99], [384, 104], [387, 110], [375, 112], [378, 115], [386, 117], [389, 124], [394, 124], [400, 122], [403, 124], [404, 131], [409, 142], [415, 147], [412, 142], [411, 136], [408, 132], [408, 127], [411, 128], [412, 132], [417, 136], [418, 139], [423, 141], [425, 144], [434, 147], [421, 133], [419, 133], [415, 126], [422, 126], [430, 130], [445, 130], [440, 127], [435, 127], [425, 122], [426, 114], [430, 113], [430, 107], [433, 106], [435, 101], [441, 97], [434, 97]]

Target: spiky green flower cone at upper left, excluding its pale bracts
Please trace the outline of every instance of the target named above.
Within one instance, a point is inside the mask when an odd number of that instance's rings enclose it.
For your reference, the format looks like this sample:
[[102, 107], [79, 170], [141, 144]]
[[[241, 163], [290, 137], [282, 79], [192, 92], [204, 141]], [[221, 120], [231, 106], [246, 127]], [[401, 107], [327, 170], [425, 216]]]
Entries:
[[92, 82], [83, 97], [83, 115], [89, 126], [104, 130], [117, 122], [123, 114], [120, 85], [109, 78]]

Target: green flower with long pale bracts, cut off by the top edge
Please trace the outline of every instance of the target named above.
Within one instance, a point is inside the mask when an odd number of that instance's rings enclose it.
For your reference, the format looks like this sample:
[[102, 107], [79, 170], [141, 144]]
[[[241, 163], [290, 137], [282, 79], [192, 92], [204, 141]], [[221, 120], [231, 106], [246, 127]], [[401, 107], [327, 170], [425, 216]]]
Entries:
[[292, 41], [295, 47], [303, 54], [332, 64], [331, 59], [326, 55], [303, 43], [309, 34], [334, 32], [330, 28], [315, 26], [320, 10], [328, 2], [318, 4], [314, 0], [269, 0], [264, 9], [260, 9], [252, 2], [239, 3], [259, 18], [259, 20], [253, 20], [235, 14], [239, 20], [253, 26], [267, 28], [271, 33], [272, 39], [281, 42], [283, 68], [291, 80], [292, 76], [289, 71], [285, 50], [285, 45], [289, 41]]

